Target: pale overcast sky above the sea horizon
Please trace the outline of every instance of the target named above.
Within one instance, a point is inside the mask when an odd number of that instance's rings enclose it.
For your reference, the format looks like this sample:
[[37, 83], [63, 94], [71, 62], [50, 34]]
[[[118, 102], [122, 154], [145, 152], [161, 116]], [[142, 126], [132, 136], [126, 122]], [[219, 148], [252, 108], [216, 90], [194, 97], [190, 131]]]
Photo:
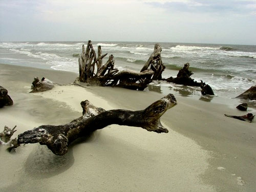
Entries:
[[0, 0], [0, 41], [256, 45], [256, 0]]

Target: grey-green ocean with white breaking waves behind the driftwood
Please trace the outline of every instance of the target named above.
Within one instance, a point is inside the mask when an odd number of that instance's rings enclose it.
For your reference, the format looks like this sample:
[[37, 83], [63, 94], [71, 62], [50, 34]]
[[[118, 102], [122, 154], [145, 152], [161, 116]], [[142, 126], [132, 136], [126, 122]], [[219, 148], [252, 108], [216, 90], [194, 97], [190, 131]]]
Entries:
[[[113, 54], [115, 66], [119, 70], [140, 71], [153, 52], [155, 43], [94, 41], [93, 46], [96, 53], [97, 46], [101, 45], [103, 54]], [[83, 44], [87, 45], [87, 41], [0, 42], [0, 62], [78, 73], [78, 57]], [[215, 98], [234, 98], [256, 84], [256, 46], [173, 42], [159, 44], [162, 47], [162, 61], [166, 66], [163, 78], [176, 77], [184, 64], [189, 62], [189, 69], [194, 73], [191, 78], [209, 84], [216, 94]], [[166, 81], [153, 81], [146, 89], [201, 98], [200, 90]]]

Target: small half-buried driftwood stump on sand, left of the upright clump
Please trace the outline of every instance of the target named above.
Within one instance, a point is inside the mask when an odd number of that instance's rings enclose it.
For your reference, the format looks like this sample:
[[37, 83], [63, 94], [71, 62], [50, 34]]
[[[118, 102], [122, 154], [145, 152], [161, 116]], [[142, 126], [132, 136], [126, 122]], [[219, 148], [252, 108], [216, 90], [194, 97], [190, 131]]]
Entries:
[[51, 90], [54, 87], [54, 82], [50, 81], [49, 79], [42, 77], [41, 80], [38, 79], [38, 77], [34, 78], [34, 81], [32, 82], [30, 93], [37, 93], [37, 92], [43, 92]]

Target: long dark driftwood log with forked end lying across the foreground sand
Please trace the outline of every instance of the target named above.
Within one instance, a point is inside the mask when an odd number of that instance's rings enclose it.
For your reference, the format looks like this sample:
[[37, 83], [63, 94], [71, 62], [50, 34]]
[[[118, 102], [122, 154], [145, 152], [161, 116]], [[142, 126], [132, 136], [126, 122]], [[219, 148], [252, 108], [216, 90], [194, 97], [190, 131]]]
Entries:
[[110, 110], [97, 108], [88, 100], [82, 101], [83, 115], [65, 125], [41, 125], [18, 135], [18, 144], [40, 143], [47, 145], [55, 155], [64, 155], [69, 144], [79, 137], [110, 124], [142, 127], [147, 131], [168, 133], [160, 122], [160, 117], [176, 105], [174, 95], [169, 94], [154, 102], [145, 110]]

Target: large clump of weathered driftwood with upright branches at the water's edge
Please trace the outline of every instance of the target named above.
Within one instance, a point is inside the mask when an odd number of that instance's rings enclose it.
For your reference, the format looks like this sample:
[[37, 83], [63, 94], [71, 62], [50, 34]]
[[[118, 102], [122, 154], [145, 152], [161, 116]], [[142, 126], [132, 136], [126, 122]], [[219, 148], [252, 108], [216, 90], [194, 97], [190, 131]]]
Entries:
[[[98, 46], [98, 55], [89, 40], [87, 48], [82, 46], [82, 54], [78, 59], [79, 77], [78, 81], [98, 84], [99, 86], [121, 87], [132, 90], [144, 90], [154, 79], [161, 78], [164, 65], [161, 60], [161, 47], [155, 45], [155, 50], [140, 72], [115, 69], [114, 56], [110, 55], [108, 61], [103, 65], [102, 59], [107, 55]], [[148, 69], [150, 68], [150, 69]]]

